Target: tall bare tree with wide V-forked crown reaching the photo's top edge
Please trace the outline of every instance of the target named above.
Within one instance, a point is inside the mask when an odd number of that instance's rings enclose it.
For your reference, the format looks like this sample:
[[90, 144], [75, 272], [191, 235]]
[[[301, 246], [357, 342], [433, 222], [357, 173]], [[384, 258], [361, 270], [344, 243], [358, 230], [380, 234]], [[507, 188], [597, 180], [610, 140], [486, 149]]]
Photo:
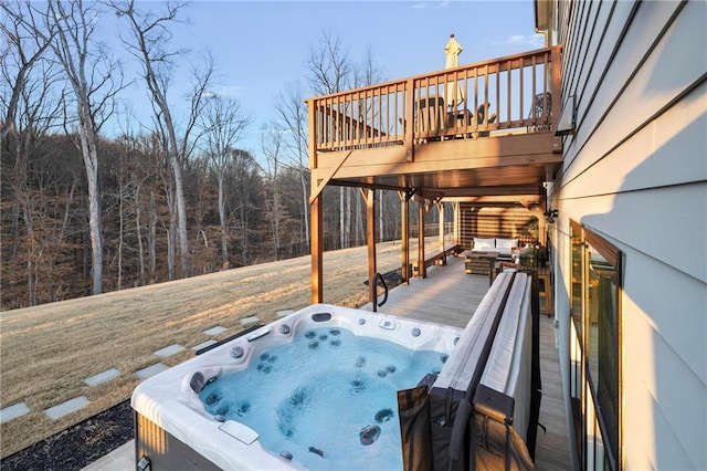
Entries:
[[205, 66], [193, 70], [194, 81], [189, 93], [189, 118], [184, 126], [183, 136], [179, 140], [167, 93], [173, 59], [186, 51], [167, 51], [166, 48], [171, 38], [169, 27], [179, 21], [179, 12], [186, 4], [184, 2], [166, 3], [163, 14], [156, 15], [148, 11], [138, 11], [134, 0], [110, 2], [118, 17], [124, 17], [128, 22], [131, 36], [123, 39], [123, 43], [143, 66], [143, 77], [149, 90], [157, 119], [161, 122], [167, 137], [167, 155], [175, 178], [175, 202], [182, 276], [190, 275], [183, 163], [193, 148], [196, 139], [190, 139], [190, 133], [194, 129], [197, 117], [208, 101], [208, 86], [213, 74], [213, 63], [210, 57], [205, 57]]

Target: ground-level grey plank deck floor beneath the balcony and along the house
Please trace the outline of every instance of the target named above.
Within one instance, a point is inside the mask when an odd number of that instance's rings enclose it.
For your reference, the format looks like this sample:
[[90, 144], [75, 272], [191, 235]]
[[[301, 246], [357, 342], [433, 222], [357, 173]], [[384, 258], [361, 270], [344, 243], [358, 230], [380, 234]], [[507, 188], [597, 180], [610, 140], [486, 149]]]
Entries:
[[[426, 279], [414, 278], [410, 284], [391, 290], [388, 302], [378, 312], [464, 327], [487, 290], [487, 275], [466, 274], [464, 258], [450, 257], [446, 265], [431, 266]], [[370, 303], [363, 308], [370, 310]], [[571, 469], [553, 324], [552, 317], [540, 316], [542, 401], [539, 421], [547, 432], [538, 430], [535, 459], [538, 470]]]

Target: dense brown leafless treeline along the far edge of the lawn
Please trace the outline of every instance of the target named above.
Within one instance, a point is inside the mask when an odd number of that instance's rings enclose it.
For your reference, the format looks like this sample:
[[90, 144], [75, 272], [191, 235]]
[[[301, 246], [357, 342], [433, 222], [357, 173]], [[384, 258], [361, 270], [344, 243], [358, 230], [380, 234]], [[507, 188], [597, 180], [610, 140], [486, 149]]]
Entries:
[[[86, 182], [74, 138], [45, 136], [22, 163], [7, 147], [2, 153], [2, 310], [91, 294]], [[300, 185], [306, 170], [284, 168], [273, 177], [250, 153], [234, 149], [224, 168], [205, 157], [184, 166], [191, 272], [182, 273], [173, 257], [171, 174], [156, 139], [101, 139], [98, 149], [104, 291], [309, 253]], [[225, 230], [218, 210], [221, 176], [228, 182]], [[325, 238], [333, 249], [340, 247], [338, 189], [327, 192]], [[361, 197], [346, 192], [355, 201], [345, 218], [352, 228], [346, 243], [361, 244]], [[383, 237], [398, 237], [397, 193], [383, 195], [381, 208]]]

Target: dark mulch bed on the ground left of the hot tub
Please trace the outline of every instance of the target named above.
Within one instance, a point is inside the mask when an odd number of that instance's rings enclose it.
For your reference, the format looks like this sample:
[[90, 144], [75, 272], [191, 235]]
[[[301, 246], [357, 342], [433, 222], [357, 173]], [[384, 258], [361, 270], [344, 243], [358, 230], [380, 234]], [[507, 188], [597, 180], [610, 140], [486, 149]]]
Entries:
[[77, 471], [134, 438], [130, 401], [104, 410], [0, 461], [4, 470]]

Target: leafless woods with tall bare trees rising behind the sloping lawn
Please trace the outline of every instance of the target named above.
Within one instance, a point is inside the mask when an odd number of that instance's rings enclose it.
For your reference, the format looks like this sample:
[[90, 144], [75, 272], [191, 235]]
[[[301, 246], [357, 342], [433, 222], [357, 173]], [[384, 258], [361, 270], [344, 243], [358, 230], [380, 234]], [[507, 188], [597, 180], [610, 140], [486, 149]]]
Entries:
[[[380, 81], [370, 52], [357, 64], [340, 38], [323, 34], [303, 52], [305, 75], [274, 94], [253, 150], [242, 136], [256, 117], [213, 92], [214, 59], [170, 43], [186, 3], [0, 10], [2, 310], [309, 253], [304, 98]], [[99, 35], [106, 14], [122, 24], [123, 56]], [[175, 113], [183, 56], [191, 88], [187, 113]], [[125, 61], [139, 73], [125, 74]], [[127, 84], [145, 90], [149, 123], [131, 124]], [[120, 133], [105, 130], [110, 119], [125, 124]], [[326, 249], [365, 243], [360, 191], [327, 188], [324, 198]], [[380, 191], [377, 202], [379, 238], [399, 238], [398, 193]]]

